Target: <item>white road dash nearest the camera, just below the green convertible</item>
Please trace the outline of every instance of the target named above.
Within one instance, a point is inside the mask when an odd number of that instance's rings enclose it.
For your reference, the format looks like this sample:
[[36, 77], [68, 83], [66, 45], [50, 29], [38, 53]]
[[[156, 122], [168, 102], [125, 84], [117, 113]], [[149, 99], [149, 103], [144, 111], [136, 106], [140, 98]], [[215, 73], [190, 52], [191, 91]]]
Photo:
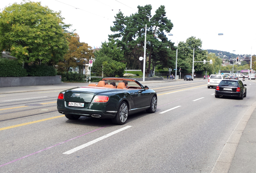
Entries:
[[118, 132], [120, 132], [120, 131], [123, 131], [123, 130], [125, 130], [125, 129], [128, 129], [128, 128], [130, 128], [130, 127], [132, 127], [132, 126], [123, 127], [123, 128], [121, 128], [121, 129], [118, 129], [118, 130], [116, 130], [116, 131], [114, 131], [114, 132], [111, 132], [111, 133], [109, 133], [109, 134], [107, 134], [107, 135], [104, 135], [104, 136], [102, 136], [102, 137], [99, 137], [99, 138], [97, 138], [97, 139], [95, 139], [95, 140], [93, 140], [93, 141], [90, 141], [90, 142], [88, 142], [88, 143], [85, 143], [85, 144], [83, 144], [83, 145], [80, 145], [80, 146], [78, 146], [78, 147], [76, 147], [76, 148], [74, 148], [74, 149], [71, 149], [71, 150], [69, 150], [69, 151], [66, 151], [65, 153], [62, 153], [62, 154], [72, 154], [72, 153], [74, 153], [74, 152], [76, 152], [76, 151], [78, 151], [78, 150], [81, 150], [81, 149], [83, 149], [83, 148], [85, 148], [85, 147], [88, 147], [89, 145], [92, 145], [92, 144], [94, 144], [94, 143], [97, 143], [97, 142], [99, 142], [99, 141], [101, 141], [101, 140], [103, 140], [103, 139], [105, 139], [105, 138], [107, 138], [107, 137], [110, 137], [110, 136], [112, 136], [112, 135], [115, 135], [116, 133], [118, 133]]

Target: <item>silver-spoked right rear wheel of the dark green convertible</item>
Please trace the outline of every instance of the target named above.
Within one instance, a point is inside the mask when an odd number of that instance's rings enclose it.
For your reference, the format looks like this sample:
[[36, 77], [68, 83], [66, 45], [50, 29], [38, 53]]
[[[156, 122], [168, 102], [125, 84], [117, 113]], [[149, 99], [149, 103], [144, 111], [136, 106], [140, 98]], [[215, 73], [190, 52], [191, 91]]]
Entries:
[[112, 119], [112, 122], [117, 125], [124, 125], [126, 123], [127, 117], [128, 117], [128, 105], [125, 101], [123, 101], [119, 105], [116, 117]]

